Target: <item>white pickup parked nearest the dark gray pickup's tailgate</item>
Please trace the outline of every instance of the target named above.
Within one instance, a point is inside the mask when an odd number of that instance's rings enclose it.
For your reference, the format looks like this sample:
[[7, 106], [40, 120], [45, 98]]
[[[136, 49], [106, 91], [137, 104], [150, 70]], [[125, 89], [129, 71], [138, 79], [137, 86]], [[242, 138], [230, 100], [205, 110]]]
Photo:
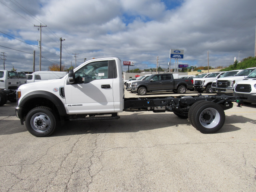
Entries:
[[224, 72], [214, 72], [208, 76], [206, 76], [205, 78], [197, 78], [194, 81], [194, 89], [195, 91], [202, 93], [204, 91], [206, 91], [206, 93], [213, 93], [212, 91], [212, 82], [214, 82], [214, 80], [217, 80], [220, 76], [222, 76]]

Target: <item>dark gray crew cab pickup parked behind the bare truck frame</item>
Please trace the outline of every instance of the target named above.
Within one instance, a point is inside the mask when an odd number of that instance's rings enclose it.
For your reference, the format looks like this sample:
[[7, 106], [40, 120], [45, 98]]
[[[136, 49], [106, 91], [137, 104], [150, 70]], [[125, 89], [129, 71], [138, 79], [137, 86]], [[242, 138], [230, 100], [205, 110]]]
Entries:
[[173, 91], [184, 94], [187, 89], [193, 90], [193, 83], [193, 78], [174, 79], [171, 73], [153, 74], [147, 80], [133, 82], [131, 91], [138, 92], [139, 95], [160, 91]]

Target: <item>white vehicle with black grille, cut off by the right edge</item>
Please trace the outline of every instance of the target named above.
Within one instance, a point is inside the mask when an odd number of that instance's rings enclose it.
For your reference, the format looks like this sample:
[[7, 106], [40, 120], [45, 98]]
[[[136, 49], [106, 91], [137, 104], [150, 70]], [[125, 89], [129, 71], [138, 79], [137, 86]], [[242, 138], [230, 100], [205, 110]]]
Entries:
[[244, 104], [256, 103], [256, 70], [236, 84], [234, 95], [242, 98]]

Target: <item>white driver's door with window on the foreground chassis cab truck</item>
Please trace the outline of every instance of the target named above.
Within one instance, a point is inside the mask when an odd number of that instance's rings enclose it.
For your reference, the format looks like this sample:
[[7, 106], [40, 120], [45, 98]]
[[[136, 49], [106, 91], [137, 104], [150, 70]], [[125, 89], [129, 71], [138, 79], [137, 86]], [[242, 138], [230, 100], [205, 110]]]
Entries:
[[114, 60], [98, 60], [78, 69], [74, 84], [64, 86], [68, 114], [114, 112]]

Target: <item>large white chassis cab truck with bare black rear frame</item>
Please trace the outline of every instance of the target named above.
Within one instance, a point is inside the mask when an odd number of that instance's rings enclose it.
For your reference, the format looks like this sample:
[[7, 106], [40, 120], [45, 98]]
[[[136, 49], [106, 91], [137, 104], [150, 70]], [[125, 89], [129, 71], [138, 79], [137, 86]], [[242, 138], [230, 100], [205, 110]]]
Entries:
[[222, 128], [224, 110], [238, 99], [202, 95], [124, 98], [121, 60], [99, 58], [86, 61], [63, 78], [20, 86], [16, 116], [38, 137], [49, 136], [65, 120], [101, 120], [104, 126], [105, 120], [118, 119], [118, 113], [130, 109], [173, 112], [188, 118], [201, 132], [212, 133]]

